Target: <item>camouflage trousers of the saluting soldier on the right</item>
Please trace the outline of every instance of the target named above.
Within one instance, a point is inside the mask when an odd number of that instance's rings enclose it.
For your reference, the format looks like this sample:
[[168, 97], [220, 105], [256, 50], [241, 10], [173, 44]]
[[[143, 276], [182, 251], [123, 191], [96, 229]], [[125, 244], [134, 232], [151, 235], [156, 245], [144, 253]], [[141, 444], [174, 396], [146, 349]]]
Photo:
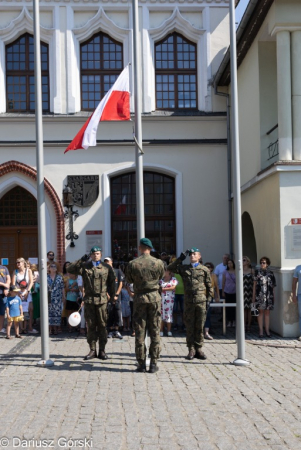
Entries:
[[206, 320], [206, 302], [184, 303], [184, 321], [186, 342], [189, 350], [201, 348], [204, 343], [204, 325]]

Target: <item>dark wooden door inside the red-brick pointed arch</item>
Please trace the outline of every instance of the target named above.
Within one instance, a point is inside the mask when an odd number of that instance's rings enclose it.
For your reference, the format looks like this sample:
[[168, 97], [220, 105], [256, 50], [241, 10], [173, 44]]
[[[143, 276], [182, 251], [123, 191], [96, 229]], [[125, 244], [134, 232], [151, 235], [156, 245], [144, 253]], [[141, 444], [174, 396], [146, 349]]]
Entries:
[[16, 258], [38, 257], [37, 201], [16, 186], [0, 199], [0, 255], [8, 258], [10, 273]]

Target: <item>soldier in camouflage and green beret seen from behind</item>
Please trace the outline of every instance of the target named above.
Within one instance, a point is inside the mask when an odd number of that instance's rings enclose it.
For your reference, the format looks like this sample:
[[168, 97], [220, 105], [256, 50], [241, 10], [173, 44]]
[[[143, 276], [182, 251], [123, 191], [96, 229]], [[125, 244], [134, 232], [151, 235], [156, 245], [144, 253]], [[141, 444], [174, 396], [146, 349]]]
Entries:
[[151, 363], [149, 372], [158, 371], [157, 359], [160, 352], [161, 295], [159, 280], [164, 275], [164, 264], [150, 255], [153, 245], [147, 238], [140, 239], [141, 256], [131, 261], [125, 272], [125, 278], [133, 283], [135, 324], [135, 352], [138, 372], [146, 371], [145, 335], [148, 330], [151, 344], [149, 353]]

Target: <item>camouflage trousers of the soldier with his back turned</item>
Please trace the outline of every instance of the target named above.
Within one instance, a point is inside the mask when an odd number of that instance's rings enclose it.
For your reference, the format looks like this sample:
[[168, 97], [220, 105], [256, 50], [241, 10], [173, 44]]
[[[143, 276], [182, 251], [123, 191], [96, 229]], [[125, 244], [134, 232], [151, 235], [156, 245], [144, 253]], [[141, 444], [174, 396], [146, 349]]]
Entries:
[[145, 335], [148, 330], [150, 338], [149, 353], [151, 362], [156, 363], [160, 355], [160, 324], [161, 324], [161, 301], [154, 303], [135, 303], [134, 314], [135, 326], [135, 352], [139, 364], [146, 360]]

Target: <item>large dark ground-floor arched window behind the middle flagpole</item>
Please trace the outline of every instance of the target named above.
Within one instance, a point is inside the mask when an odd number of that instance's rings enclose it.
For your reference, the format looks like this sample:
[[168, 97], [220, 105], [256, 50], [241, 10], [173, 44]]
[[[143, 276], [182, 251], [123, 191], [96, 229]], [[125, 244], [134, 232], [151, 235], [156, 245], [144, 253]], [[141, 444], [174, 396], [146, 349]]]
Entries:
[[[144, 172], [145, 235], [157, 252], [176, 251], [175, 180]], [[128, 261], [137, 253], [136, 175], [111, 179], [112, 255]]]

